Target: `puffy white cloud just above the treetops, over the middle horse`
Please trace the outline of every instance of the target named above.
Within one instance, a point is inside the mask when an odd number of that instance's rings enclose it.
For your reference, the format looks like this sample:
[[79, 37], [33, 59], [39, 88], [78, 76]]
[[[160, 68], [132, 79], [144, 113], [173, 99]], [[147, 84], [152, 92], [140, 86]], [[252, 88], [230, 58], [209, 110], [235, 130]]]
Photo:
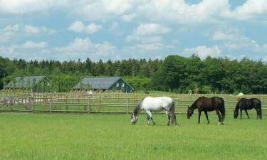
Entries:
[[187, 55], [196, 54], [200, 58], [206, 58], [207, 56], [219, 57], [221, 56], [221, 49], [219, 46], [213, 46], [211, 48], [206, 46], [197, 46], [196, 48], [185, 48], [183, 53]]

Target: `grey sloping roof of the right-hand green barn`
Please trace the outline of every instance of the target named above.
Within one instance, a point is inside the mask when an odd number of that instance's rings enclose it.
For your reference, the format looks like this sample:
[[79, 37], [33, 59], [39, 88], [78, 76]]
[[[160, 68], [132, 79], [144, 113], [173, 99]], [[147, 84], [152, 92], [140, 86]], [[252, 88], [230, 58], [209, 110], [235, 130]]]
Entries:
[[80, 83], [83, 85], [90, 85], [93, 89], [105, 89], [108, 90], [112, 85], [114, 85], [120, 77], [93, 77], [93, 78], [83, 78], [73, 89], [80, 89]]

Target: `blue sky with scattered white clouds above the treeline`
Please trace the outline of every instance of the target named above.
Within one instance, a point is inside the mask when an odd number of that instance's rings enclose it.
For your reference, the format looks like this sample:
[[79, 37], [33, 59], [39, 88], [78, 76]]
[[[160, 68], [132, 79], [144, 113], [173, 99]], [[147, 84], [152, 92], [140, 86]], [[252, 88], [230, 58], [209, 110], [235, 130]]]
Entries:
[[267, 61], [266, 0], [0, 0], [0, 56]]

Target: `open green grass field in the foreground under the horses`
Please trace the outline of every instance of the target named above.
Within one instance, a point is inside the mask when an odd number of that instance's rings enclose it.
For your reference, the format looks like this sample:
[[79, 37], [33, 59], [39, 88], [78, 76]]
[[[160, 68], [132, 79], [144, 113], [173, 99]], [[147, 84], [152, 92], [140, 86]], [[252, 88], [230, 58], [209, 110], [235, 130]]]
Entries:
[[210, 124], [177, 114], [168, 127], [165, 114], [146, 126], [146, 114], [131, 125], [130, 114], [0, 113], [0, 159], [266, 159], [266, 114], [249, 114], [223, 126], [216, 114]]

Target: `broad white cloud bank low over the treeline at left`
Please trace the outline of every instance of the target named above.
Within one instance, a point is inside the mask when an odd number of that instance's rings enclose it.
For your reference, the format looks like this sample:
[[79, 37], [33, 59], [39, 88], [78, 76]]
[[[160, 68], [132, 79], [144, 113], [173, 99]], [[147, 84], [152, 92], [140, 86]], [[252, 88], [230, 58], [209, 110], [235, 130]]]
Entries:
[[117, 47], [109, 42], [93, 43], [90, 38], [75, 38], [68, 43], [67, 46], [58, 46], [54, 48], [47, 48], [46, 42], [27, 41], [21, 46], [11, 45], [9, 47], [0, 46], [0, 54], [8, 58], [23, 58], [26, 60], [85, 60], [90, 58], [92, 60], [108, 60], [121, 59], [117, 51]]

